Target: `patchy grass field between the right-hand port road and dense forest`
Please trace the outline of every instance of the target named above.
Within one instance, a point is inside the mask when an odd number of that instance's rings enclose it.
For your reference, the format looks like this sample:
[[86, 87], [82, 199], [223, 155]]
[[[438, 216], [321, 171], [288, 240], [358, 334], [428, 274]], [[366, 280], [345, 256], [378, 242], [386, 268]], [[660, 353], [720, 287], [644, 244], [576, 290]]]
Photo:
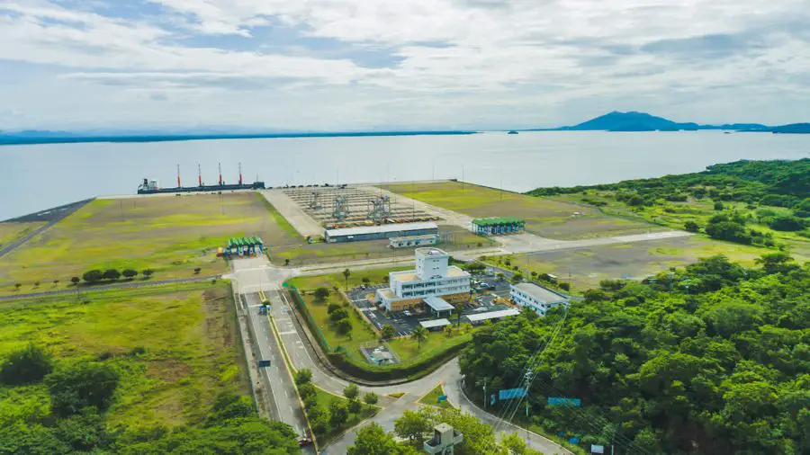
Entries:
[[[690, 236], [542, 254], [490, 256], [487, 262], [504, 266], [504, 262], [509, 261], [524, 273], [552, 273], [557, 275], [559, 281], [571, 281], [572, 290], [581, 292], [598, 287], [602, 280], [640, 279], [715, 254], [725, 254], [732, 261], [752, 266], [754, 259], [771, 252], [767, 248], [718, 242], [705, 236]], [[800, 263], [810, 260], [810, 256], [804, 254], [793, 256]]]

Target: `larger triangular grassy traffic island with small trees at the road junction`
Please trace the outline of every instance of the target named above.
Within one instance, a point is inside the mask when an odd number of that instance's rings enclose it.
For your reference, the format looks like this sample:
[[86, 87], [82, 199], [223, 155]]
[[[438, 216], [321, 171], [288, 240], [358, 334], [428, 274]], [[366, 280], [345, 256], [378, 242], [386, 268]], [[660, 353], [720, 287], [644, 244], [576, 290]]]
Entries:
[[359, 389], [354, 384], [344, 389], [344, 398], [315, 387], [311, 378], [310, 370], [300, 370], [295, 376], [295, 384], [298, 386], [307, 419], [321, 447], [380, 410], [370, 403], [361, 402]]

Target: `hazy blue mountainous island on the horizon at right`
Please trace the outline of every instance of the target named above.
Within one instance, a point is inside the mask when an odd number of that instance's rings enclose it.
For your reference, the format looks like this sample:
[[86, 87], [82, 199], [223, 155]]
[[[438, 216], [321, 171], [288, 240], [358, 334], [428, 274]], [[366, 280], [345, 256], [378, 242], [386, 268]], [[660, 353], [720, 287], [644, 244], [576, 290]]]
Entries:
[[760, 123], [725, 123], [723, 125], [700, 125], [694, 122], [680, 123], [656, 117], [645, 112], [608, 112], [580, 124], [552, 128], [525, 129], [527, 131], [697, 131], [701, 129], [725, 129], [746, 132], [770, 132], [774, 134], [810, 134], [810, 123], [792, 123], [770, 127]]

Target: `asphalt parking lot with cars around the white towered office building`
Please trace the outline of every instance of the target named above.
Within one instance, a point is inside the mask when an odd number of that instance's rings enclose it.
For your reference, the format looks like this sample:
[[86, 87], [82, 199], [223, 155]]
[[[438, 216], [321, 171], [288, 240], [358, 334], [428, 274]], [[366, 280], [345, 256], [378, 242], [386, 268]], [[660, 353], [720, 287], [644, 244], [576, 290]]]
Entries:
[[[485, 311], [498, 311], [508, 308], [506, 305], [496, 304], [495, 299], [509, 296], [509, 281], [500, 281], [495, 276], [487, 276], [484, 274], [473, 275], [473, 281], [486, 283], [486, 285], [473, 287], [473, 304], [464, 305], [463, 315], [481, 314]], [[394, 327], [396, 336], [408, 336], [415, 327], [419, 326], [419, 321], [436, 318], [433, 313], [429, 311], [422, 313], [408, 312], [410, 314], [402, 312], [392, 314], [390, 317], [386, 316], [385, 311], [376, 308], [372, 300], [374, 299], [376, 290], [387, 287], [388, 284], [360, 286], [347, 292], [352, 303], [368, 317], [377, 330], [382, 330], [383, 326], [390, 325]], [[369, 298], [370, 294], [371, 299]], [[450, 319], [450, 321], [455, 324], [455, 317], [447, 317], [447, 319]], [[462, 318], [462, 322], [464, 322], [464, 317]]]

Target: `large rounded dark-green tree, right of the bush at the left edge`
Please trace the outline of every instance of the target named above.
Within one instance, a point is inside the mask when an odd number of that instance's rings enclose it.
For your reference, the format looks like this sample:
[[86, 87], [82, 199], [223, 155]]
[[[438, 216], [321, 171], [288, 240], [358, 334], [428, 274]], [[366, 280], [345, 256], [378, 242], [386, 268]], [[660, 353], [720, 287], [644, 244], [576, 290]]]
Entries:
[[45, 383], [51, 409], [59, 416], [73, 415], [85, 407], [105, 410], [118, 387], [118, 373], [98, 362], [80, 362], [50, 373]]

